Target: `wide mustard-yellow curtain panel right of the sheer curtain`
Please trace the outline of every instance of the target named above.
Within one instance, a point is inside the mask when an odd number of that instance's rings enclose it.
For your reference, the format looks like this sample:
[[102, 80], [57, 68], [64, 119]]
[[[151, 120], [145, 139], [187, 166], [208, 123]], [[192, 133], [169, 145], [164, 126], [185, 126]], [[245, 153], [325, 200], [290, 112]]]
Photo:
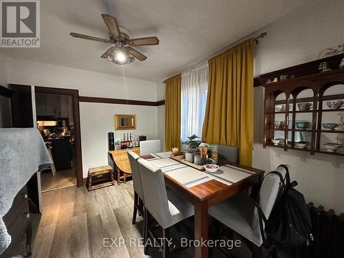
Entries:
[[253, 41], [211, 58], [202, 140], [239, 147], [239, 163], [252, 164]]

